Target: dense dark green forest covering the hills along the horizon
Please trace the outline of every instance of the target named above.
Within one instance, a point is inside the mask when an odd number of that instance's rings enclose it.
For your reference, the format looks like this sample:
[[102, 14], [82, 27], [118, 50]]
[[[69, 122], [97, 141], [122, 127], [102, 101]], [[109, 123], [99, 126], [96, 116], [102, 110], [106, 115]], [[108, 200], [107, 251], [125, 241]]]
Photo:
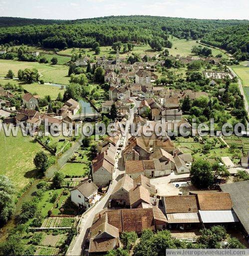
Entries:
[[[5, 25], [4, 25], [5, 24]], [[19, 25], [17, 25], [19, 24]], [[26, 25], [24, 25], [26, 24]], [[108, 16], [77, 20], [0, 18], [0, 44], [39, 44], [50, 48], [91, 47], [114, 42], [149, 43], [154, 38], [201, 39], [231, 53], [249, 52], [248, 20], [209, 20], [160, 16]], [[239, 52], [239, 53], [238, 53]]]

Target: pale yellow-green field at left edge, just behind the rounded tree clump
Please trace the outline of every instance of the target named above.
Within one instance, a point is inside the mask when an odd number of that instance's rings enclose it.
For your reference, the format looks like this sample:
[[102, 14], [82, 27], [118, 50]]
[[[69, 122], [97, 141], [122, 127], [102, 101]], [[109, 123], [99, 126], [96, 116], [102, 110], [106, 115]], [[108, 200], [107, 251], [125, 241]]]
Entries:
[[67, 76], [68, 66], [0, 59], [0, 76], [5, 76], [9, 69], [17, 75], [19, 69], [25, 68], [36, 68], [40, 74], [40, 78], [46, 82], [69, 84], [69, 77]]

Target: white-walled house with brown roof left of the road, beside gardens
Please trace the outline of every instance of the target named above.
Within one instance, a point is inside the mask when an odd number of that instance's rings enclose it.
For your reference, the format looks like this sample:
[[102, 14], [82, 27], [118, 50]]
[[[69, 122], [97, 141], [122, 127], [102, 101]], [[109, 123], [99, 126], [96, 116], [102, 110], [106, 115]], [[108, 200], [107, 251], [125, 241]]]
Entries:
[[86, 178], [70, 190], [70, 198], [78, 207], [88, 209], [100, 199], [98, 186]]

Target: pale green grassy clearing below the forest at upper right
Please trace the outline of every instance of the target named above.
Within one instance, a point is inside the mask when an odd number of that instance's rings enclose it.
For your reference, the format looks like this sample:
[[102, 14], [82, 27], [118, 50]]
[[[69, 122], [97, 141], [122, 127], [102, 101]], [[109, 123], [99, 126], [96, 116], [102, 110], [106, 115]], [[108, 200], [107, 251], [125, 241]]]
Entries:
[[[172, 54], [173, 56], [176, 56], [176, 54], [180, 54], [181, 56], [187, 56], [187, 55], [193, 55], [193, 53], [191, 53], [191, 49], [194, 45], [201, 45], [202, 47], [204, 47], [204, 45], [197, 43], [195, 40], [186, 40], [186, 39], [179, 39], [175, 36], [173, 36], [173, 38], [169, 38], [170, 41], [172, 41], [173, 45], [172, 48], [169, 49], [170, 54]], [[210, 47], [209, 47], [210, 48]], [[223, 57], [228, 58], [228, 56], [220, 49], [212, 49], [212, 54], [214, 56], [216, 56], [219, 53], [222, 53]]]

